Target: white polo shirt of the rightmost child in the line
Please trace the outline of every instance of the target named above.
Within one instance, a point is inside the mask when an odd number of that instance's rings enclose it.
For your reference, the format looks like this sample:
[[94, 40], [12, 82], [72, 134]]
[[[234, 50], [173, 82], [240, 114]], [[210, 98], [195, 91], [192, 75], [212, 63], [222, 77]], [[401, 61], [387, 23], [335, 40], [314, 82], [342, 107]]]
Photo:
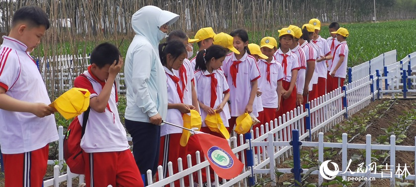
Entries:
[[348, 45], [347, 41], [339, 43], [339, 45], [335, 48], [335, 55], [334, 55], [334, 63], [331, 66], [331, 72], [335, 69], [339, 61], [339, 57], [344, 56], [344, 61], [342, 61], [341, 66], [339, 66], [338, 70], [335, 72], [335, 77], [345, 78], [347, 74], [347, 65], [348, 65]]

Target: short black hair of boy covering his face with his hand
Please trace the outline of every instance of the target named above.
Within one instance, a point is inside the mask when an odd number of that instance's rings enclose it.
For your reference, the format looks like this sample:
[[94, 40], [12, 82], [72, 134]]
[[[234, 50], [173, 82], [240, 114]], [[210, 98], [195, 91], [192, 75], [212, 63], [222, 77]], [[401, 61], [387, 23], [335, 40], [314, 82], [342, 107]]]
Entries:
[[112, 64], [114, 60], [120, 58], [120, 51], [116, 46], [110, 43], [98, 45], [91, 52], [91, 64], [96, 64], [99, 68], [103, 68], [107, 64]]

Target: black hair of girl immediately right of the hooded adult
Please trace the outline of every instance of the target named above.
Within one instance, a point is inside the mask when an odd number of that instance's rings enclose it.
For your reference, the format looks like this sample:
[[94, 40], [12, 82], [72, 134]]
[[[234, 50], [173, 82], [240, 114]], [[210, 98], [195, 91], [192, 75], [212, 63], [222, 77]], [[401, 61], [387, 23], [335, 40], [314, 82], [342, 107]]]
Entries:
[[159, 44], [159, 57], [163, 66], [166, 66], [166, 55], [171, 54], [175, 60], [181, 54], [186, 53], [186, 47], [179, 40], [172, 40], [163, 44]]

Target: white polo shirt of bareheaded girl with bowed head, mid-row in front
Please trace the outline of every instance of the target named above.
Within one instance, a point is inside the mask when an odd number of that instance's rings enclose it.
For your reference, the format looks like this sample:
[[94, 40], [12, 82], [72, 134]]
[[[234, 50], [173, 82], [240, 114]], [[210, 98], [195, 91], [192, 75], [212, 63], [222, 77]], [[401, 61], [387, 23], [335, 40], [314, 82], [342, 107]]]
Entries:
[[[223, 101], [224, 93], [230, 92], [228, 88], [227, 80], [224, 76], [224, 73], [221, 70], [213, 70], [212, 73], [217, 80], [216, 86], [216, 100], [213, 109], [215, 110], [219, 104]], [[211, 78], [207, 77], [210, 75], [208, 71], [202, 72], [201, 70], [195, 71], [195, 82], [197, 83], [198, 87], [198, 100], [204, 103], [207, 106], [210, 106], [211, 103]], [[205, 123], [205, 118], [207, 117], [208, 113], [205, 110], [201, 110], [201, 117], [202, 117], [202, 127], [207, 127]], [[222, 112], [219, 113], [221, 116], [221, 120], [224, 123], [225, 127], [229, 127], [228, 119], [231, 118], [230, 110], [228, 108], [228, 104], [224, 105]]]

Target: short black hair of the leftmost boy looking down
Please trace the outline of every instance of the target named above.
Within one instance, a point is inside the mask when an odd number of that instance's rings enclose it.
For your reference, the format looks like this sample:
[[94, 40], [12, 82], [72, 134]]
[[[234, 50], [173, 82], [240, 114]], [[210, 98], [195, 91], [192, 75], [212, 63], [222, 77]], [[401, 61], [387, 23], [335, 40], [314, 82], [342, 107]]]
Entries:
[[48, 15], [39, 6], [28, 5], [19, 8], [13, 15], [12, 26], [25, 21], [29, 27], [45, 26], [48, 30], [50, 25]]

